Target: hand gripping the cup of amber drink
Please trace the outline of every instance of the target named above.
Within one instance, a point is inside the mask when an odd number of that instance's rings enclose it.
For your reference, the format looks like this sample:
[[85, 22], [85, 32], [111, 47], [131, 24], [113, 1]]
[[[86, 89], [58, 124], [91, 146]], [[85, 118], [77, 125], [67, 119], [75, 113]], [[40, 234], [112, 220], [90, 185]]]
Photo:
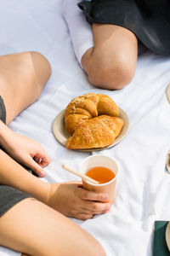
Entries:
[[83, 220], [111, 209], [107, 195], [82, 189], [81, 182], [51, 184], [46, 203], [67, 217]]

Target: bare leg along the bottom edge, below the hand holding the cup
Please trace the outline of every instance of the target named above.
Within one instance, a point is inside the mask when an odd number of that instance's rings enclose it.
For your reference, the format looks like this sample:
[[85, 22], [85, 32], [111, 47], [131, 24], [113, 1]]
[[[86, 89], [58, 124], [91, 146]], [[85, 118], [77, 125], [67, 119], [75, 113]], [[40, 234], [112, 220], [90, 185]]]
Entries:
[[31, 198], [0, 218], [0, 245], [31, 256], [105, 256], [87, 231]]

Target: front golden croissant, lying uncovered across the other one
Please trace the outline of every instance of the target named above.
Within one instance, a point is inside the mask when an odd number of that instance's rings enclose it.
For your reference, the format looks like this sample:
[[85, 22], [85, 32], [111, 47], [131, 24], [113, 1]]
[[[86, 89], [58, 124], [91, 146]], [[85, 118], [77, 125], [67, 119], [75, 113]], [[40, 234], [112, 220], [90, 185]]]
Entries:
[[66, 148], [104, 148], [111, 145], [122, 131], [123, 119], [100, 115], [88, 119], [77, 127], [72, 137], [69, 137]]

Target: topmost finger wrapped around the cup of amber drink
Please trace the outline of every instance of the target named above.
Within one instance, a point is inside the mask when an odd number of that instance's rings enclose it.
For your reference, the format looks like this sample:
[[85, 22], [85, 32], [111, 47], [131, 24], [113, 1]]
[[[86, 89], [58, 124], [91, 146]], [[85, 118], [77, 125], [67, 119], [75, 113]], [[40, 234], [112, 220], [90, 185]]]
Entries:
[[109, 201], [108, 195], [104, 193], [96, 193], [94, 191], [88, 191], [86, 189], [77, 189], [77, 195], [83, 199], [88, 201], [102, 201], [106, 202]]

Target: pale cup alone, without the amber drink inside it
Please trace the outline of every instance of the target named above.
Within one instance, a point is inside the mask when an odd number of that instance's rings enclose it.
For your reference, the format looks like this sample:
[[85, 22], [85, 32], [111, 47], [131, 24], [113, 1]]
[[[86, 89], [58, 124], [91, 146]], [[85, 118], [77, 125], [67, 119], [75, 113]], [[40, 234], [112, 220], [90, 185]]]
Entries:
[[106, 195], [108, 195], [109, 201], [111, 201], [112, 203], [115, 198], [116, 179], [118, 175], [118, 167], [116, 165], [116, 161], [112, 160], [111, 157], [101, 154], [88, 156], [85, 160], [82, 161], [80, 165], [80, 172], [86, 174], [89, 169], [96, 166], [102, 166], [110, 169], [111, 172], [114, 172], [115, 177], [107, 183], [100, 184], [90, 183], [82, 179], [83, 189], [95, 191], [98, 193], [105, 193]]

